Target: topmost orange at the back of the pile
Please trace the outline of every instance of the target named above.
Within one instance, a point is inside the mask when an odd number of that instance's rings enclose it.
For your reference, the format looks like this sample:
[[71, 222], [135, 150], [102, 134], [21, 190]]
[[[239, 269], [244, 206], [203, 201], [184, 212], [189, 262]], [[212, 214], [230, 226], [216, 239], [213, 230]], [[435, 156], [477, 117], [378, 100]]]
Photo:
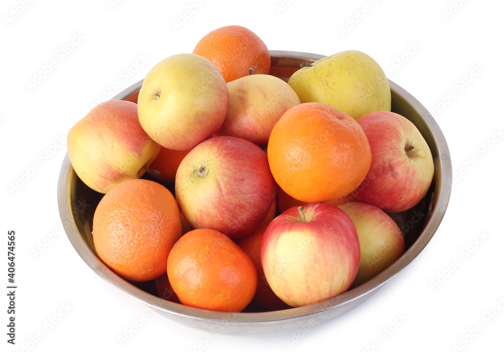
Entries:
[[224, 26], [203, 36], [193, 54], [208, 58], [227, 82], [250, 74], [270, 72], [270, 52], [253, 31], [241, 26]]

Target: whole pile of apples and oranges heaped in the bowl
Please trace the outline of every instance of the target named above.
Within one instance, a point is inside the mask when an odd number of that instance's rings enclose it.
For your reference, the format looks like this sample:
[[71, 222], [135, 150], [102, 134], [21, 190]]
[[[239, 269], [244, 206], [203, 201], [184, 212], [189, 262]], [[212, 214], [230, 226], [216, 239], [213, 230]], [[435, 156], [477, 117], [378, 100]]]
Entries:
[[117, 275], [187, 306], [280, 310], [340, 295], [404, 253], [391, 214], [420, 202], [434, 164], [391, 112], [381, 67], [352, 50], [288, 81], [270, 65], [254, 32], [222, 27], [70, 129], [75, 172], [103, 194], [96, 253]]

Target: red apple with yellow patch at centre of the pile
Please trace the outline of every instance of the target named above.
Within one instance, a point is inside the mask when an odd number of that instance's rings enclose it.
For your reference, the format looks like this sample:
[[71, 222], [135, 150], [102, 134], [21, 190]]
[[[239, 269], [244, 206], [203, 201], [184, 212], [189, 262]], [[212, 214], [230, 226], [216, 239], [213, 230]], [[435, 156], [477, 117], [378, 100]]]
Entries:
[[277, 185], [266, 152], [242, 138], [209, 138], [182, 160], [175, 196], [192, 228], [211, 228], [231, 239], [255, 231], [268, 215]]

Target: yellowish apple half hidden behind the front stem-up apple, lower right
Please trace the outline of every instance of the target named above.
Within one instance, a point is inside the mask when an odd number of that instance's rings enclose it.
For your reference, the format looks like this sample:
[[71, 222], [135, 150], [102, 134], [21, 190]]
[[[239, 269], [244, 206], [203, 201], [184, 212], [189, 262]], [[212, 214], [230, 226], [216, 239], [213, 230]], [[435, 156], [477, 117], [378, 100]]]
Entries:
[[404, 253], [404, 237], [396, 222], [372, 204], [348, 202], [338, 205], [353, 221], [360, 243], [356, 287], [387, 269]]

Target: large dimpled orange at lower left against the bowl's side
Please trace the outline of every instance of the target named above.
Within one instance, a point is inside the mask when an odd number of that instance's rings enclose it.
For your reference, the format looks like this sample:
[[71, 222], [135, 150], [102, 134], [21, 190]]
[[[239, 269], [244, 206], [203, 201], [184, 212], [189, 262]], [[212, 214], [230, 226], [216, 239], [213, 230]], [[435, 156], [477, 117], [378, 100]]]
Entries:
[[154, 280], [166, 271], [168, 253], [182, 236], [180, 210], [157, 182], [123, 181], [98, 203], [92, 234], [98, 257], [117, 275]]

